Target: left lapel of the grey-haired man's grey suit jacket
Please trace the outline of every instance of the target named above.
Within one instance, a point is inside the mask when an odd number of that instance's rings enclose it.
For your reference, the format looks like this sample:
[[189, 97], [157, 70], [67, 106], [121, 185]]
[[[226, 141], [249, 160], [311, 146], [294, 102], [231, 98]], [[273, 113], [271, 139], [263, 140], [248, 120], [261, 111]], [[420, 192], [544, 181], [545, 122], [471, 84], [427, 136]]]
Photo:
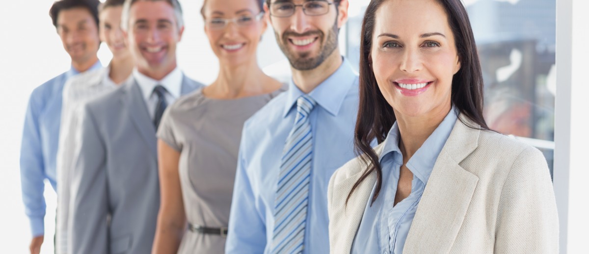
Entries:
[[125, 84], [125, 96], [123, 103], [128, 106], [131, 122], [137, 128], [137, 131], [141, 134], [147, 145], [153, 152], [154, 156], [157, 156], [157, 140], [155, 138], [155, 126], [151, 121], [151, 117], [147, 112], [147, 106], [145, 100], [141, 94], [141, 89], [134, 78], [129, 79], [128, 83]]

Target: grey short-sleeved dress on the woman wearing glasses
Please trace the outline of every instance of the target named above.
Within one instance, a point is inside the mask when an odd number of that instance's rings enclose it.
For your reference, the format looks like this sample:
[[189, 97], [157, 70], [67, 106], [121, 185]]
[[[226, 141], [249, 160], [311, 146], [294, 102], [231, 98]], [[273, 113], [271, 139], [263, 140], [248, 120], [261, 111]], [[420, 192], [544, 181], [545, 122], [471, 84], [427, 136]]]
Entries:
[[[180, 152], [180, 185], [188, 223], [227, 227], [243, 123], [287, 89], [239, 99], [211, 99], [198, 89], [168, 107], [157, 132]], [[178, 253], [224, 253], [226, 238], [187, 230]]]

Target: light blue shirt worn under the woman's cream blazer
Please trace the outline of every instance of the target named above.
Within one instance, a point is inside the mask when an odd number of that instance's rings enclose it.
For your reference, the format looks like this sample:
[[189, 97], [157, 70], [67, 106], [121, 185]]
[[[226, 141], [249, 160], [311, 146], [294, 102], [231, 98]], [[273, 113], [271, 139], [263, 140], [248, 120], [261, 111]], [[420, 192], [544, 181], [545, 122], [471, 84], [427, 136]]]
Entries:
[[[452, 108], [444, 121], [409, 159], [406, 166], [413, 173], [411, 194], [396, 206], [393, 204], [403, 156], [399, 150], [399, 126], [396, 122], [393, 124], [386, 136], [383, 151], [379, 157], [382, 166], [382, 189], [372, 206], [370, 206], [372, 198], [366, 204], [362, 222], [360, 222], [352, 244], [353, 254], [403, 253], [403, 246], [415, 217], [419, 200], [421, 200], [423, 189], [428, 183], [436, 159], [444, 148], [457, 118], [458, 115]], [[370, 193], [371, 197], [374, 195], [375, 189], [376, 185]]]

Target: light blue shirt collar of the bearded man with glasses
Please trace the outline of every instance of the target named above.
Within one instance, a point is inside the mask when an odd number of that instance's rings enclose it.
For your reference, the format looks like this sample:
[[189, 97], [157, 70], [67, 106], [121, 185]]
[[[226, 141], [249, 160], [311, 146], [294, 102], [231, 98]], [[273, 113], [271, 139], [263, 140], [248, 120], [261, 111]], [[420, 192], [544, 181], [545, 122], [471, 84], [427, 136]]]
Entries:
[[[358, 75], [352, 68], [352, 65], [350, 65], [348, 59], [343, 58], [342, 65], [329, 78], [313, 89], [309, 93], [309, 96], [315, 99], [317, 105], [320, 105], [330, 114], [337, 116], [350, 87], [357, 81]], [[305, 93], [300, 91], [294, 84], [294, 81], [290, 79], [283, 117], [288, 115], [293, 105], [296, 104], [296, 100], [303, 94]]]

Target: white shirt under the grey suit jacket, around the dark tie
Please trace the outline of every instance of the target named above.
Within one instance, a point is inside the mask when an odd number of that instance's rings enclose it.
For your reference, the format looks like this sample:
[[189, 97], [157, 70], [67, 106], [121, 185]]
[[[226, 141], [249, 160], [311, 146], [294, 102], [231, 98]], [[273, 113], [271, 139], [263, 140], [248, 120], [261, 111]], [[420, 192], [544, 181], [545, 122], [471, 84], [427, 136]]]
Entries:
[[145, 76], [143, 73], [139, 72], [137, 68], [133, 69], [133, 77], [143, 93], [143, 99], [151, 119], [154, 119], [155, 117], [155, 108], [157, 106], [157, 95], [153, 93], [155, 86], [161, 85], [166, 88], [166, 103], [168, 105], [171, 105], [178, 97], [180, 97], [183, 75], [178, 67], [159, 81]]

